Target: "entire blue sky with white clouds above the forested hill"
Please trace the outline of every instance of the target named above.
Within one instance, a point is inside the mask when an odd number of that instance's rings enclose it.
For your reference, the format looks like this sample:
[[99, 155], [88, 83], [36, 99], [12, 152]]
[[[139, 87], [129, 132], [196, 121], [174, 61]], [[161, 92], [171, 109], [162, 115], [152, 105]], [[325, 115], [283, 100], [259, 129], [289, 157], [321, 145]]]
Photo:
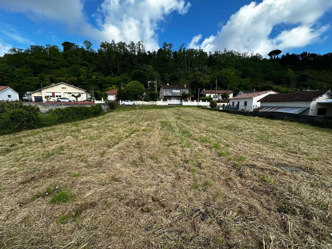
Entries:
[[[44, 10], [53, 13], [43, 13]], [[19, 13], [20, 11], [25, 13]], [[41, 13], [27, 13], [39, 11]], [[9, 12], [9, 13], [7, 13]], [[144, 40], [206, 51], [327, 53], [331, 0], [0, 0], [0, 54], [12, 46]]]

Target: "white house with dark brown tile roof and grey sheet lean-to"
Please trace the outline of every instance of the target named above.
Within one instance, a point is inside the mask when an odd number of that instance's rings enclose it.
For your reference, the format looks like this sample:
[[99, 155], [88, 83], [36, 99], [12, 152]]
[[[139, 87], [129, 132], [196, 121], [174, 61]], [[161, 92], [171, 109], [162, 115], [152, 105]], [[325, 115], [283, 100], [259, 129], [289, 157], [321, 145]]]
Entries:
[[304, 90], [294, 93], [267, 95], [260, 99], [259, 112], [332, 115], [331, 90]]

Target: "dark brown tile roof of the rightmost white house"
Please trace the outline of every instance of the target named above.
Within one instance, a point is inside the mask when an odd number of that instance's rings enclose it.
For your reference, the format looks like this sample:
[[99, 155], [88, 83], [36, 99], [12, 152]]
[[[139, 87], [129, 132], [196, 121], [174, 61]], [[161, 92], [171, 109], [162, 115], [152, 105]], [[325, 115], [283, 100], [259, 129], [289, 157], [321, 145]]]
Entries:
[[330, 90], [304, 90], [304, 91], [297, 91], [294, 93], [269, 94], [258, 101], [260, 102], [311, 101], [319, 96], [322, 96], [328, 91]]

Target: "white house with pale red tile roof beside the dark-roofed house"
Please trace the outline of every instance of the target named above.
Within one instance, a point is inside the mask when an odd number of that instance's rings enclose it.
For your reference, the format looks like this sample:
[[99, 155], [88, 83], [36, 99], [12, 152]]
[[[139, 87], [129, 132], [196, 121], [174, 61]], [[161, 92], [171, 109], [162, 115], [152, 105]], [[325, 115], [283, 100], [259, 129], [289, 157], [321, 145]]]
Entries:
[[238, 110], [252, 111], [253, 109], [260, 107], [260, 102], [258, 102], [258, 100], [269, 94], [277, 94], [277, 92], [267, 90], [261, 92], [243, 93], [235, 96], [234, 98], [230, 98], [229, 104], [232, 106], [238, 106]]

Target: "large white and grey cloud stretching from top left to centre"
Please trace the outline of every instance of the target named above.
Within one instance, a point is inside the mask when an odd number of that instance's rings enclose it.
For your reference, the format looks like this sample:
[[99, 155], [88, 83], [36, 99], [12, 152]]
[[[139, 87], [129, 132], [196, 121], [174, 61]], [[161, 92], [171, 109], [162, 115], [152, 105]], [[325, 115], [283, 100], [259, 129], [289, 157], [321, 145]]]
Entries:
[[[147, 49], [158, 49], [156, 31], [164, 18], [173, 12], [184, 15], [191, 4], [184, 0], [104, 0], [97, 12], [87, 17], [82, 0], [3, 1], [4, 8], [51, 9], [53, 13], [27, 14], [36, 22], [44, 19], [65, 23], [70, 32], [98, 41], [140, 41]], [[97, 26], [89, 22], [96, 21]]]

